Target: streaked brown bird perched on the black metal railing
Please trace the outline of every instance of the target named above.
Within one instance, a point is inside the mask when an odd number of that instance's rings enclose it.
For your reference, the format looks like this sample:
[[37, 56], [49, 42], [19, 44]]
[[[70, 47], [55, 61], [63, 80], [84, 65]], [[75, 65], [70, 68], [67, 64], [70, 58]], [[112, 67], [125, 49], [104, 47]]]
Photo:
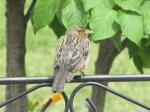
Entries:
[[89, 52], [88, 36], [91, 33], [92, 31], [79, 26], [66, 31], [56, 50], [53, 92], [63, 92], [65, 82], [71, 81], [76, 72], [83, 72]]

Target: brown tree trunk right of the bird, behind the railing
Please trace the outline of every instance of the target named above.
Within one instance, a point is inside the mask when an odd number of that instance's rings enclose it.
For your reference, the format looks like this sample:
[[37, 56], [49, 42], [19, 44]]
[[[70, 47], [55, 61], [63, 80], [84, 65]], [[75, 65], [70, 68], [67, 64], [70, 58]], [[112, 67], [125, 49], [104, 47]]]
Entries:
[[[111, 39], [103, 40], [99, 43], [99, 53], [95, 63], [95, 74], [108, 74], [118, 50]], [[107, 86], [107, 82], [102, 84]], [[106, 91], [97, 87], [92, 88], [91, 99], [97, 107], [97, 112], [104, 111]], [[90, 110], [90, 112], [92, 112]]]

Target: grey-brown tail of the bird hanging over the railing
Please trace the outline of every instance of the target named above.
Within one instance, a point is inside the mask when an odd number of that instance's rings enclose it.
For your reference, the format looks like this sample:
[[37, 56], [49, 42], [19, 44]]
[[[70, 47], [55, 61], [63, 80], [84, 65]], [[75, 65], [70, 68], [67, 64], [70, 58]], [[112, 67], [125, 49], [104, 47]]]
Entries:
[[68, 72], [65, 69], [60, 69], [54, 79], [52, 91], [55, 93], [62, 93], [64, 91], [64, 84], [67, 80]]

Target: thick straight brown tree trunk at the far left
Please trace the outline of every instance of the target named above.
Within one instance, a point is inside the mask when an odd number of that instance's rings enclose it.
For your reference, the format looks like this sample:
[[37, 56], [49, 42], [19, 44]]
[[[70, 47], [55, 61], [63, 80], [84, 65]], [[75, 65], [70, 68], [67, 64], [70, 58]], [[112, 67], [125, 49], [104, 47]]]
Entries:
[[[24, 18], [25, 0], [7, 0], [7, 76], [25, 76], [25, 32]], [[6, 87], [6, 100], [26, 90], [25, 85], [9, 85]], [[27, 112], [27, 97], [8, 104], [6, 112]]]

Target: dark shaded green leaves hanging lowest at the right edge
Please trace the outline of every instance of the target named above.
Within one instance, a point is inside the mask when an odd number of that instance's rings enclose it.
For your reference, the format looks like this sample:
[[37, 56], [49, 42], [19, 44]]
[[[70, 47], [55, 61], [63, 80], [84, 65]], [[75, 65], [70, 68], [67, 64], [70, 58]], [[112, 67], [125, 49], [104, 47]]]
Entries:
[[144, 67], [150, 68], [150, 39], [143, 38], [140, 47], [128, 40], [127, 48], [130, 58], [133, 58], [135, 66], [141, 73]]

